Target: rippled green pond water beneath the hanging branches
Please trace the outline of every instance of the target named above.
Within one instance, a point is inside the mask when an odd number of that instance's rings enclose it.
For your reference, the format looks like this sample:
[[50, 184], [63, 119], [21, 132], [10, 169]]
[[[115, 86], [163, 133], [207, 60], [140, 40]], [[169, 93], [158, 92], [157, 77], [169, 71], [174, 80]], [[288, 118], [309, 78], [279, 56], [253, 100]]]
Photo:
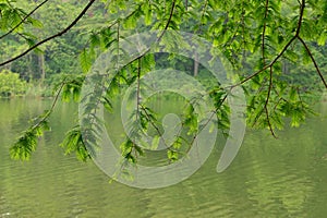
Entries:
[[[93, 161], [64, 156], [58, 145], [76, 121], [76, 105], [60, 105], [52, 131], [27, 162], [9, 147], [48, 100], [0, 101], [0, 217], [326, 217], [327, 106], [299, 129], [246, 132], [222, 173], [216, 165], [223, 144], [185, 181], [140, 190], [110, 178]], [[325, 116], [325, 117], [324, 117]]]

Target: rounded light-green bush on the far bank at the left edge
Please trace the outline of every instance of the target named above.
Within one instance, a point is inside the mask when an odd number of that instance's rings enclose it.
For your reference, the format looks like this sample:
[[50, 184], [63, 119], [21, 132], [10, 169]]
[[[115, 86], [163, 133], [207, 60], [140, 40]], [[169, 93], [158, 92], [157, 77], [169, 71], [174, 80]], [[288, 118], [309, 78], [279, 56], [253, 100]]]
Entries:
[[20, 78], [19, 73], [12, 73], [8, 70], [0, 72], [0, 96], [22, 96], [27, 89], [25, 81]]

